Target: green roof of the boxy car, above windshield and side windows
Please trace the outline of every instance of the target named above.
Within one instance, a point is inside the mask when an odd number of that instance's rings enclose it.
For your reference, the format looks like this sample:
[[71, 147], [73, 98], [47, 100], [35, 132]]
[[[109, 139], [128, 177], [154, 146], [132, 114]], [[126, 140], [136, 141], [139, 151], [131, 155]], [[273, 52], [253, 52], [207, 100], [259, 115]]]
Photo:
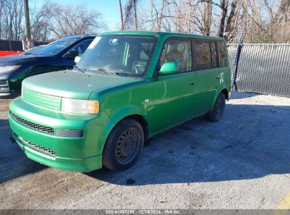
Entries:
[[99, 35], [147, 35], [157, 37], [190, 37], [194, 39], [207, 39], [207, 40], [224, 40], [222, 37], [210, 37], [205, 35], [191, 35], [186, 33], [171, 33], [163, 31], [144, 31], [144, 30], [121, 30], [101, 33]]

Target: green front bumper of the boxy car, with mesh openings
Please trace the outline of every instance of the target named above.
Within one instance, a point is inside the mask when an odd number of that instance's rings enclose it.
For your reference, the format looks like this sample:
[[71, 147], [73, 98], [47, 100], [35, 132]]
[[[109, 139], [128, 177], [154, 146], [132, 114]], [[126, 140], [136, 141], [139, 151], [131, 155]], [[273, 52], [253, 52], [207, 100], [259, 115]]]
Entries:
[[[11, 112], [33, 124], [42, 124], [54, 129], [82, 130], [83, 136], [64, 137], [46, 134], [21, 124]], [[16, 98], [11, 102], [8, 121], [13, 138], [28, 158], [53, 168], [90, 172], [102, 168], [104, 139], [100, 137], [103, 132], [102, 122], [106, 116], [66, 116], [37, 108], [25, 103], [21, 98]]]

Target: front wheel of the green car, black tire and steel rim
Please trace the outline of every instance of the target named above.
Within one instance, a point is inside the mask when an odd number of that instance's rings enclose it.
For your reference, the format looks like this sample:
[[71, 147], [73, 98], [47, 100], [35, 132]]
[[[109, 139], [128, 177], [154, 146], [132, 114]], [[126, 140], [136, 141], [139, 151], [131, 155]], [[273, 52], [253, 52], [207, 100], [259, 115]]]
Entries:
[[144, 145], [139, 122], [126, 119], [111, 131], [103, 150], [102, 164], [110, 170], [126, 170], [138, 160]]

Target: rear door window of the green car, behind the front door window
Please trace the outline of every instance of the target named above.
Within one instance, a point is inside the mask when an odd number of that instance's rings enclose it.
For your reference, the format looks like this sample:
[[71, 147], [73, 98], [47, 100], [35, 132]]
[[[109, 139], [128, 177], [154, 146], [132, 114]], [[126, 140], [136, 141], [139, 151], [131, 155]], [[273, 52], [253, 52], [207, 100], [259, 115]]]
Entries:
[[209, 41], [195, 41], [196, 69], [210, 69], [212, 60]]

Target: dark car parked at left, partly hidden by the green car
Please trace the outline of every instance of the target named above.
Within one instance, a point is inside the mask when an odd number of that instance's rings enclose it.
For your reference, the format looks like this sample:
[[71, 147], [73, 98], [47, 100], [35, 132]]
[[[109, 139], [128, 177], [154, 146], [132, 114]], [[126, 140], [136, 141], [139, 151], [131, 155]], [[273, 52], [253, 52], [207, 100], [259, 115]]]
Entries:
[[20, 93], [23, 79], [51, 71], [71, 69], [76, 56], [94, 40], [95, 35], [63, 37], [37, 52], [0, 57], [0, 97]]

